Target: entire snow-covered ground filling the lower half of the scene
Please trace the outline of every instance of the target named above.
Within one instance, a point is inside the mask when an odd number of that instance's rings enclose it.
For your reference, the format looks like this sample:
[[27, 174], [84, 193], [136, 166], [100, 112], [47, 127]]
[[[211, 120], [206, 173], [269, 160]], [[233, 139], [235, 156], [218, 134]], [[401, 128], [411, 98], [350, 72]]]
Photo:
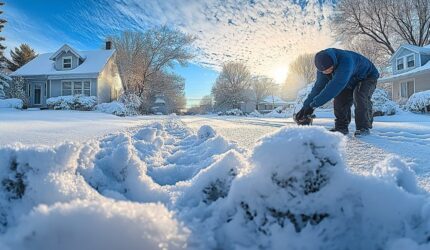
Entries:
[[0, 249], [429, 249], [430, 117], [317, 115], [0, 109]]

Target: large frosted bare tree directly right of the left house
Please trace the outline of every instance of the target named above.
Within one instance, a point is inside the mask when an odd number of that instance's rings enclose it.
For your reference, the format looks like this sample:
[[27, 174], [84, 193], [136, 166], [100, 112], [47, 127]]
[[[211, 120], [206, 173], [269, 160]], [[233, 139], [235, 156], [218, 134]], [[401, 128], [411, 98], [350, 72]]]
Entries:
[[193, 58], [195, 38], [162, 26], [144, 33], [124, 32], [112, 40], [124, 90], [141, 95], [158, 72], [172, 68], [175, 62], [186, 65]]

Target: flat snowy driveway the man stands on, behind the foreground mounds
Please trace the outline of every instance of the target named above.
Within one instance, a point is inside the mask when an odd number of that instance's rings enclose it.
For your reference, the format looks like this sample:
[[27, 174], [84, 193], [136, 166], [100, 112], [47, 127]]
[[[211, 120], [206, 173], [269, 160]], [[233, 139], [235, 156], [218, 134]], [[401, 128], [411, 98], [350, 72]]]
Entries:
[[[315, 119], [316, 126], [333, 126], [330, 113], [321, 112], [317, 116], [322, 118]], [[194, 130], [210, 125], [248, 150], [253, 149], [260, 137], [284, 126], [296, 126], [291, 118], [186, 116], [181, 120]], [[351, 124], [350, 131], [354, 128]], [[430, 190], [430, 116], [408, 113], [377, 117], [371, 136], [361, 139], [348, 136], [345, 156], [353, 172], [367, 175], [389, 155], [400, 156], [408, 162], [419, 176], [421, 185]]]

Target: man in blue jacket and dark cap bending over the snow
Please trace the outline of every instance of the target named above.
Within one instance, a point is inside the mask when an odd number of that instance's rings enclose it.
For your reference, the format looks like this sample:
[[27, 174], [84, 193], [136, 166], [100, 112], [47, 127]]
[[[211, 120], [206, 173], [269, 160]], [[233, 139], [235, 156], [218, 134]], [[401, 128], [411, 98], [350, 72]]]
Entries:
[[295, 115], [299, 125], [308, 124], [314, 110], [334, 98], [335, 126], [330, 131], [348, 134], [351, 106], [355, 106], [355, 136], [367, 135], [372, 128], [371, 97], [379, 72], [358, 53], [329, 48], [315, 55], [317, 80], [311, 93]]

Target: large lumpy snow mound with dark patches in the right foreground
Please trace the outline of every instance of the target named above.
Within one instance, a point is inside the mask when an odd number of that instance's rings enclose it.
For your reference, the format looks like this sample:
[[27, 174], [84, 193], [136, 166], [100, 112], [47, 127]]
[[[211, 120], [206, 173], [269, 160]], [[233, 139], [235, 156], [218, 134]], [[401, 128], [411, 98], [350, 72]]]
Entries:
[[220, 249], [386, 249], [401, 238], [427, 244], [429, 201], [403, 163], [382, 163], [396, 181], [357, 176], [346, 170], [342, 148], [342, 137], [322, 128], [263, 138], [250, 167], [231, 177], [228, 195], [201, 206], [205, 216], [192, 228], [204, 228], [198, 238]]

